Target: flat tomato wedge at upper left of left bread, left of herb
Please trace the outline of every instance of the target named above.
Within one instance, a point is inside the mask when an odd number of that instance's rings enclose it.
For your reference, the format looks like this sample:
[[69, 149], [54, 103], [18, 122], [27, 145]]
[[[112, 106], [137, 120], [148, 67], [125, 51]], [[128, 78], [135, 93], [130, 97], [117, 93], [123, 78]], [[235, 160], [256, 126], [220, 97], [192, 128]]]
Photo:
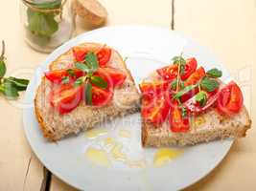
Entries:
[[[74, 76], [70, 76], [73, 79], [79, 78], [83, 75], [83, 72], [77, 69], [72, 69], [74, 71]], [[60, 83], [62, 78], [65, 76], [69, 76], [67, 69], [49, 71], [45, 73], [47, 79], [49, 79], [53, 83]]]

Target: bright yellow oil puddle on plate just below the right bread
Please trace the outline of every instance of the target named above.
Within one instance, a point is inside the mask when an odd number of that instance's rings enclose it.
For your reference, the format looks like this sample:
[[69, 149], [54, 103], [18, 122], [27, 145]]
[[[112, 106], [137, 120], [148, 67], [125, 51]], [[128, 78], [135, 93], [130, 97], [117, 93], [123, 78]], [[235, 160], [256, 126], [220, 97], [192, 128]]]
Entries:
[[162, 148], [156, 151], [153, 157], [153, 165], [161, 167], [169, 161], [178, 158], [183, 153], [181, 149]]

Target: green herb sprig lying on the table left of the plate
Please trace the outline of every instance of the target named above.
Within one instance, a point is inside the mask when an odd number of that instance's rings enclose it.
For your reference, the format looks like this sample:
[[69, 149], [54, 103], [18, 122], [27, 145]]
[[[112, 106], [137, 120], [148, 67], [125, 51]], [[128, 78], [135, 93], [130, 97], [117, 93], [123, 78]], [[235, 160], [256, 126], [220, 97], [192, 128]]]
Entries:
[[16, 98], [19, 96], [18, 92], [27, 89], [29, 80], [13, 76], [5, 77], [7, 71], [5, 49], [5, 42], [2, 41], [2, 53], [0, 56], [0, 93], [9, 98]]

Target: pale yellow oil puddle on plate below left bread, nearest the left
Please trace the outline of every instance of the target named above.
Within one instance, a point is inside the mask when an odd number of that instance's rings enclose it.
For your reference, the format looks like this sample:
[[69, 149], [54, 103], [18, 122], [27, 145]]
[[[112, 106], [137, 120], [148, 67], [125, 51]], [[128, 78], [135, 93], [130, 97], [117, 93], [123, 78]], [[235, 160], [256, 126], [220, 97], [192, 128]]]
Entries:
[[101, 166], [109, 167], [111, 165], [111, 162], [109, 161], [105, 150], [88, 147], [85, 152], [85, 157], [91, 162]]

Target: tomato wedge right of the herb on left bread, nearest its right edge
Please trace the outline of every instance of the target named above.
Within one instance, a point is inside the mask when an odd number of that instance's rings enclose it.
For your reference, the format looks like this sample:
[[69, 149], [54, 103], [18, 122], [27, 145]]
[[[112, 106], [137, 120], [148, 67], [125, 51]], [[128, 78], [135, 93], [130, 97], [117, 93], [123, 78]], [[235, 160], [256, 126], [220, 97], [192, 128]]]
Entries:
[[123, 71], [110, 67], [99, 68], [94, 75], [103, 77], [107, 81], [108, 88], [123, 85], [127, 78], [127, 74]]

